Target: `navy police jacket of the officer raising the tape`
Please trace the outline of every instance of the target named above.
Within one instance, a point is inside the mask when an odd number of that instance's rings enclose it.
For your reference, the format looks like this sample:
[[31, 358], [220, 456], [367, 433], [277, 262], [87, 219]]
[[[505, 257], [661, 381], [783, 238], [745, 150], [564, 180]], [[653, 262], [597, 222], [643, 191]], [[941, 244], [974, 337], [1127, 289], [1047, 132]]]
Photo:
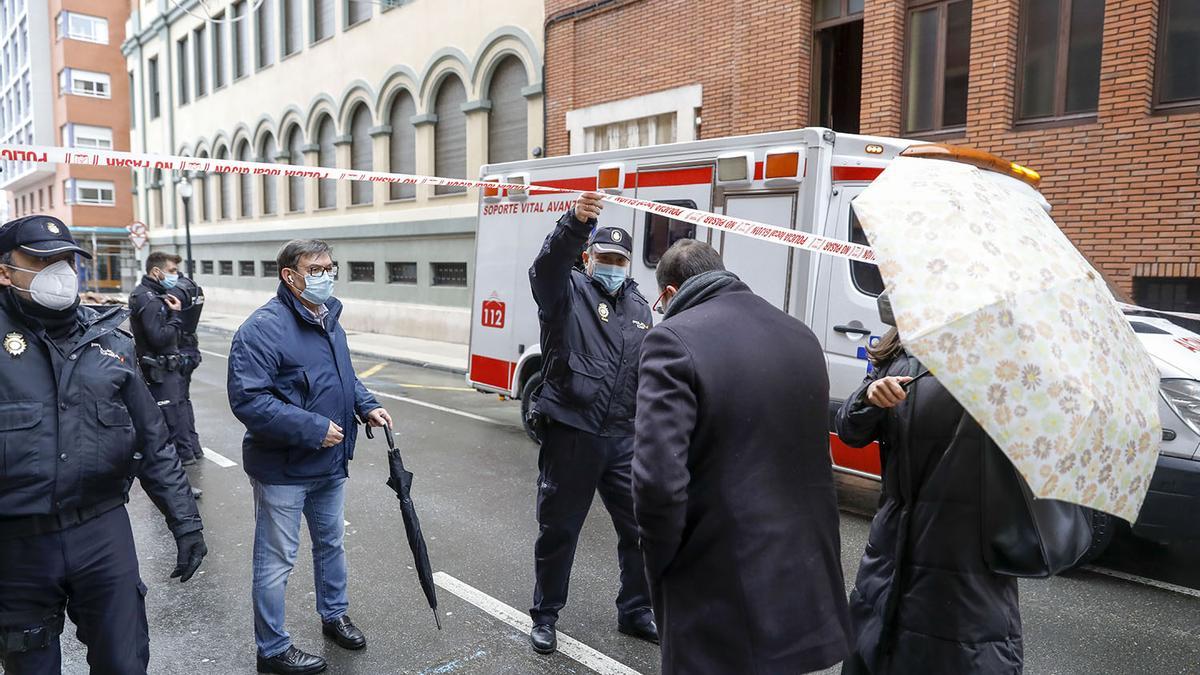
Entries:
[[650, 329], [650, 305], [625, 283], [610, 294], [575, 269], [595, 219], [558, 219], [529, 268], [541, 322], [541, 414], [599, 436], [634, 435], [637, 363]]

